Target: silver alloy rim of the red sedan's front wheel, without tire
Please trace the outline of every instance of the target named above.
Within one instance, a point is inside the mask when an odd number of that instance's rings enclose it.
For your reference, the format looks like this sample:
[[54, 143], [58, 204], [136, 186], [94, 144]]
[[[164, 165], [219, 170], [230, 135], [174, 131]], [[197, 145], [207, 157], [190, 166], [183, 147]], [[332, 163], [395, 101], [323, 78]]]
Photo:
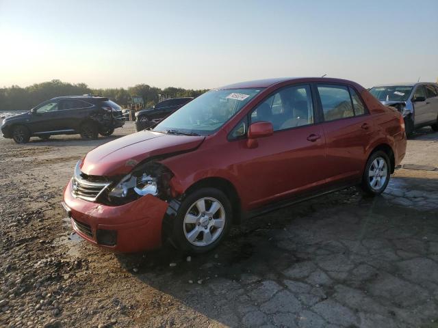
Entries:
[[215, 198], [203, 197], [194, 202], [185, 213], [185, 238], [195, 246], [210, 245], [224, 231], [225, 220], [224, 206]]

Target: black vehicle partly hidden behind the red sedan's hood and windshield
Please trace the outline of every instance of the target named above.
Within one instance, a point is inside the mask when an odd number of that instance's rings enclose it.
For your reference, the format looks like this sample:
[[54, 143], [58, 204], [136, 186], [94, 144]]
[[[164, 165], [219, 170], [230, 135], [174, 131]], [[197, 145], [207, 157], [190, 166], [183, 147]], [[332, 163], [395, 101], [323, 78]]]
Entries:
[[152, 108], [138, 111], [136, 113], [136, 122], [134, 122], [136, 130], [142, 131], [145, 128], [150, 128], [191, 100], [193, 100], [192, 97], [166, 99], [162, 102], [158, 102], [157, 105]]

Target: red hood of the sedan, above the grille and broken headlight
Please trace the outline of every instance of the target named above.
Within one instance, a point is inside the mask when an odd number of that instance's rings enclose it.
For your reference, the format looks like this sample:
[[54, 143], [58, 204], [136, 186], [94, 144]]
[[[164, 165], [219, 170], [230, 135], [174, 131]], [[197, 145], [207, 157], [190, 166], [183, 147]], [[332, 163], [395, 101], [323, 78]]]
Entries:
[[140, 131], [88, 152], [83, 159], [81, 172], [92, 176], [128, 174], [138, 163], [151, 156], [194, 150], [204, 139], [203, 136]]

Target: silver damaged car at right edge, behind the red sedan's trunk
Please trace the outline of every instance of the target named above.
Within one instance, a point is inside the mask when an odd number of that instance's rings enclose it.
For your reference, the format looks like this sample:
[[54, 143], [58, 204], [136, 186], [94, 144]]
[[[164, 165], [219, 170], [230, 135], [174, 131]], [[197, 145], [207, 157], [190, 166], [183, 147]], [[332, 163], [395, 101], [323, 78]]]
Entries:
[[408, 136], [422, 126], [438, 131], [438, 83], [377, 85], [370, 92], [383, 105], [396, 107], [402, 113]]

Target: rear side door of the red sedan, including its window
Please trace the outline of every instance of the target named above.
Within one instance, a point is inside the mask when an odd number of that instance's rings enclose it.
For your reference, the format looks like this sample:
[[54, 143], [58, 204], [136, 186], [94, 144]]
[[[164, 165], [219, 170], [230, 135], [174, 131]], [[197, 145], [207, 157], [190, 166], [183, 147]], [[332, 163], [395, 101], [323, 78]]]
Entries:
[[317, 84], [326, 136], [326, 182], [359, 180], [374, 124], [359, 93], [349, 85]]

